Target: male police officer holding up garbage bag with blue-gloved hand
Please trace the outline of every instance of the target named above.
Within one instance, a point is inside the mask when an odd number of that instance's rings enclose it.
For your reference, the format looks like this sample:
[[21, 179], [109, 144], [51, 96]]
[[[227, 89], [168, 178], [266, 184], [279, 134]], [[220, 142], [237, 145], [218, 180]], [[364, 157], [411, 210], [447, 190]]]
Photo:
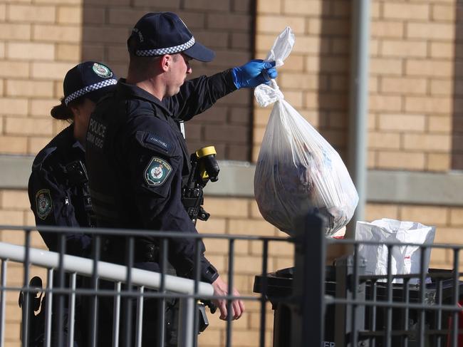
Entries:
[[[150, 13], [137, 22], [128, 39], [130, 66], [114, 93], [101, 100], [90, 119], [87, 163], [93, 207], [100, 227], [197, 233], [182, 205], [182, 187], [189, 175], [187, 145], [179, 123], [204, 112], [237, 88], [255, 87], [276, 77], [274, 62], [250, 61], [214, 76], [185, 81], [189, 61], [212, 61], [215, 53], [196, 42], [173, 13]], [[159, 271], [153, 237], [135, 239], [135, 266]], [[123, 263], [125, 240], [105, 239], [103, 257]], [[169, 240], [169, 261], [177, 274], [192, 278], [195, 240]], [[215, 295], [227, 295], [227, 284], [204, 257], [200, 242], [202, 281]], [[239, 295], [238, 291], [233, 291]], [[244, 312], [234, 300], [217, 301], [220, 318]], [[152, 335], [151, 332], [148, 333]], [[143, 343], [149, 336], [144, 333]]]

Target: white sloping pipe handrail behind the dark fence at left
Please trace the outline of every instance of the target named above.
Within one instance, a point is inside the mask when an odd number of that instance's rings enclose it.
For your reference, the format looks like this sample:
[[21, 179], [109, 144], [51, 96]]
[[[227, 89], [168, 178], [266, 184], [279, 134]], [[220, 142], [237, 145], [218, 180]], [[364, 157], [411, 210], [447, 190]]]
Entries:
[[[26, 247], [16, 244], [0, 242], [0, 258], [24, 262]], [[43, 266], [48, 269], [57, 269], [59, 266], [59, 253], [44, 251], [43, 249], [29, 248], [29, 261], [31, 264]], [[83, 276], [92, 276], [93, 260], [64, 254], [64, 271], [76, 272]], [[127, 266], [98, 261], [98, 276], [109, 281], [125, 282], [127, 279]], [[132, 269], [132, 284], [145, 286], [150, 289], [160, 289], [161, 274], [142, 269]], [[194, 281], [182, 277], [165, 275], [165, 289], [180, 294], [194, 294]], [[214, 289], [211, 284], [199, 282], [199, 296], [212, 296]]]

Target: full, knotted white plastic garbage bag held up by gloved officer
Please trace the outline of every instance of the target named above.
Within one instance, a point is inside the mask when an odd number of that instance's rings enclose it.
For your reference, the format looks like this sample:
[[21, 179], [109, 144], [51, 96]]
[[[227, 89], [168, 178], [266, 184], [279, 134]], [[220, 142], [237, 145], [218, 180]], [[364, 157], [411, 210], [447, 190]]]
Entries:
[[[266, 61], [276, 66], [291, 53], [294, 36], [287, 27]], [[284, 100], [276, 82], [254, 90], [259, 105], [274, 103], [254, 175], [254, 195], [264, 219], [293, 234], [294, 219], [317, 208], [332, 235], [352, 218], [358, 195], [338, 152]]]

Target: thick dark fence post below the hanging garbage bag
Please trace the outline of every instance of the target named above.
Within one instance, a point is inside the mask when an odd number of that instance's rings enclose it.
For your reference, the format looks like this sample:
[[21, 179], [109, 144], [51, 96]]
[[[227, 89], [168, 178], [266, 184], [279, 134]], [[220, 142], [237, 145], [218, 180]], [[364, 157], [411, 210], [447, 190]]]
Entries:
[[322, 346], [325, 326], [325, 220], [316, 213], [296, 221], [291, 344]]

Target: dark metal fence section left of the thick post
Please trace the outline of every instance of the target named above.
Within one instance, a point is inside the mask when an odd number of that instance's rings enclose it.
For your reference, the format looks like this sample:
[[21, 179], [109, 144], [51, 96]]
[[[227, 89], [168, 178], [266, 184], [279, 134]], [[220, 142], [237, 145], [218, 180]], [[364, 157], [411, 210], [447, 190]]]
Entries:
[[[266, 295], [265, 289], [261, 296], [242, 295], [214, 296], [211, 284], [199, 281], [199, 268], [195, 266], [194, 279], [184, 279], [169, 274], [167, 259], [169, 242], [175, 237], [192, 237], [197, 239], [197, 246], [201, 239], [222, 239], [228, 243], [227, 276], [224, 279], [229, 285], [229, 293], [234, 287], [234, 260], [235, 244], [240, 240], [260, 242], [262, 247], [262, 273], [267, 271], [269, 258], [269, 244], [271, 242], [292, 242], [292, 239], [283, 237], [254, 237], [245, 235], [224, 234], [188, 234], [182, 232], [149, 232], [141, 230], [124, 229], [72, 229], [64, 227], [41, 227], [41, 232], [56, 234], [60, 252], [48, 252], [31, 247], [31, 234], [35, 227], [0, 226], [0, 230], [14, 231], [24, 234], [24, 245], [0, 242], [0, 347], [6, 346], [5, 321], [6, 294], [21, 291], [23, 311], [21, 324], [22, 346], [147, 346], [142, 342], [146, 334], [152, 333], [150, 327], [145, 326], [144, 310], [150, 299], [157, 299], [157, 327], [153, 329], [157, 334], [156, 346], [167, 346], [165, 341], [166, 305], [169, 300], [178, 301], [178, 331], [177, 346], [197, 346], [197, 333], [202, 322], [197, 301], [212, 301], [226, 299], [228, 311], [231, 311], [231, 301], [241, 299], [244, 301], [260, 302], [260, 329], [259, 346], [269, 346], [266, 341]], [[66, 254], [66, 235], [76, 232], [92, 235], [93, 253], [88, 258], [76, 257]], [[134, 244], [137, 237], [152, 237], [159, 239], [161, 254], [160, 272], [135, 269], [123, 264], [111, 264], [101, 261], [101, 240], [108, 235], [126, 237], [128, 264], [133, 264]], [[18, 239], [16, 237], [16, 239]], [[199, 249], [199, 247], [197, 247]], [[206, 254], [207, 255], [207, 254]], [[130, 259], [132, 259], [130, 261]], [[7, 284], [8, 264], [21, 263], [24, 269], [22, 286]], [[196, 263], [199, 264], [199, 251]], [[46, 269], [46, 287], [31, 280], [31, 266]], [[43, 299], [43, 295], [46, 299]], [[108, 300], [112, 306], [110, 326], [101, 324], [100, 307]], [[135, 301], [128, 304], [127, 301]], [[40, 305], [41, 304], [41, 305]], [[125, 306], [126, 305], [126, 306]], [[39, 307], [41, 306], [41, 307]], [[85, 306], [85, 314], [79, 314], [78, 307]], [[41, 314], [39, 314], [41, 312]], [[245, 313], [246, 314], [246, 313]], [[38, 321], [38, 317], [42, 321]], [[58, 318], [58, 319], [56, 319]], [[78, 331], [78, 323], [85, 322], [85, 334]], [[130, 323], [135, 322], [135, 323]], [[233, 346], [232, 318], [227, 317], [225, 328], [225, 341], [223, 346]], [[110, 330], [110, 332], [108, 332]], [[109, 336], [109, 341], [101, 341], [99, 336]], [[205, 332], [207, 333], [207, 331]], [[80, 336], [80, 344], [76, 338]], [[39, 335], [41, 338], [37, 339]], [[152, 346], [152, 345], [150, 345]], [[170, 345], [169, 345], [170, 346]]]

